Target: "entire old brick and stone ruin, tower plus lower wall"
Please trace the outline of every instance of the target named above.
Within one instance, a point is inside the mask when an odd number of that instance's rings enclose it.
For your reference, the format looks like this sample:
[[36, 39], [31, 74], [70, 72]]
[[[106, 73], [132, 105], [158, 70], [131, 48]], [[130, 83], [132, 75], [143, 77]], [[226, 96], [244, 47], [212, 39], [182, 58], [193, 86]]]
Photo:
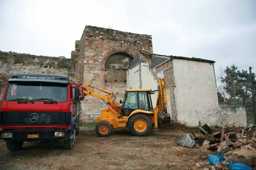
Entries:
[[[141, 50], [153, 53], [151, 35], [86, 26], [81, 39], [75, 42], [71, 59], [0, 52], [0, 97], [11, 74], [44, 73], [68, 75], [83, 85], [111, 90], [118, 101], [123, 100], [126, 69]], [[81, 107], [81, 119], [94, 121], [106, 106], [86, 96]]]

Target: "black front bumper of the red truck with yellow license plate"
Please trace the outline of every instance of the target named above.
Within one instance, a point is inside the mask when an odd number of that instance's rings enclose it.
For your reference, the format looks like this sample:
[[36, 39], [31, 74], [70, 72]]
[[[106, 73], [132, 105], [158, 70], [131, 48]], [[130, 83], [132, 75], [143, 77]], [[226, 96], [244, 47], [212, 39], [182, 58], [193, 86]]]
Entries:
[[[55, 137], [55, 132], [65, 132], [61, 137]], [[4, 133], [12, 133], [12, 137], [4, 138]], [[58, 130], [34, 130], [34, 131], [17, 131], [17, 130], [0, 130], [0, 139], [4, 141], [26, 141], [26, 142], [36, 142], [36, 141], [47, 141], [47, 140], [66, 140], [71, 139], [71, 128], [68, 129], [58, 129]], [[72, 137], [71, 137], [72, 136]]]

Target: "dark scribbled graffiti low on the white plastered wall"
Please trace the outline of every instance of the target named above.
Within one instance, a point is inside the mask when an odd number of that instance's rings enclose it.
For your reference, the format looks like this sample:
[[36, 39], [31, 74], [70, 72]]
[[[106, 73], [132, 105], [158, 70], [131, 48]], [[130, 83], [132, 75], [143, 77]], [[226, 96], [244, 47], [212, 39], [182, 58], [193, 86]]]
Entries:
[[222, 110], [212, 109], [212, 111], [196, 111], [196, 115], [203, 124], [208, 123], [210, 125], [218, 126], [227, 125], [228, 114]]

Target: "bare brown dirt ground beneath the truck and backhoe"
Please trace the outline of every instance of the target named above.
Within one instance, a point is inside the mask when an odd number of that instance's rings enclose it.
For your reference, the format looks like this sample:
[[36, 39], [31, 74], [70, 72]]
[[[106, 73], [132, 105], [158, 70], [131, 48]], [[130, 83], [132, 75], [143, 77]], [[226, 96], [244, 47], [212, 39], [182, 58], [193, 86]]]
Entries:
[[[0, 140], [0, 169], [170, 169], [194, 170], [196, 162], [214, 152], [179, 146], [179, 130], [153, 131], [147, 137], [133, 137], [115, 130], [110, 137], [98, 137], [94, 128], [82, 127], [72, 150], [63, 142], [25, 142], [21, 151], [9, 152]], [[204, 168], [201, 168], [204, 169]]]

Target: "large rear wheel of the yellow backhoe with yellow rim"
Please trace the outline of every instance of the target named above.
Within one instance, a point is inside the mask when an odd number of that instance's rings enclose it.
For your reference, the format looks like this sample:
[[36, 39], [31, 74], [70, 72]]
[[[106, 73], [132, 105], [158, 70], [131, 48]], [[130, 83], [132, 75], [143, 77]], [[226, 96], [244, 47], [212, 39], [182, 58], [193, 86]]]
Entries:
[[130, 118], [128, 128], [133, 136], [145, 137], [152, 130], [152, 121], [146, 114], [138, 113]]

